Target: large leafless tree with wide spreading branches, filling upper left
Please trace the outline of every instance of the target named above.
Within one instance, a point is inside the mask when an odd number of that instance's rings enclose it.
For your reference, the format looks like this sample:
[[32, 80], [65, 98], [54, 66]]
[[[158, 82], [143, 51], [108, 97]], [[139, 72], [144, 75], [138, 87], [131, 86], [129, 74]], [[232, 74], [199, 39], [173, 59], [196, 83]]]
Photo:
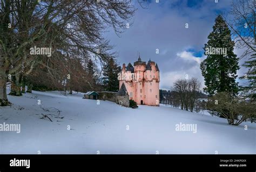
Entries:
[[[111, 26], [117, 34], [126, 28], [134, 14], [131, 0], [124, 1], [28, 1], [0, 2], [0, 102], [8, 104], [6, 78], [15, 78], [13, 90], [21, 88], [26, 72], [39, 63], [49, 73], [49, 61], [41, 55], [31, 55], [33, 46], [51, 47], [53, 54], [66, 57], [97, 58], [101, 63], [113, 56], [109, 41], [102, 32]], [[52, 55], [53, 55], [52, 54]], [[56, 56], [56, 55], [53, 55]], [[51, 60], [51, 59], [49, 59]]]

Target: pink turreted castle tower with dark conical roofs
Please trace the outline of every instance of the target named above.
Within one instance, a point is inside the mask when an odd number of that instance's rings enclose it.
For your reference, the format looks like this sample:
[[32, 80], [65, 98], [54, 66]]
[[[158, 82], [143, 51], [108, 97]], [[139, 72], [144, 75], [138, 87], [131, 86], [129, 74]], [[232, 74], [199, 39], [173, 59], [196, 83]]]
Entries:
[[130, 99], [140, 105], [159, 106], [159, 69], [155, 62], [142, 59], [131, 63], [118, 74], [119, 89], [126, 89]]

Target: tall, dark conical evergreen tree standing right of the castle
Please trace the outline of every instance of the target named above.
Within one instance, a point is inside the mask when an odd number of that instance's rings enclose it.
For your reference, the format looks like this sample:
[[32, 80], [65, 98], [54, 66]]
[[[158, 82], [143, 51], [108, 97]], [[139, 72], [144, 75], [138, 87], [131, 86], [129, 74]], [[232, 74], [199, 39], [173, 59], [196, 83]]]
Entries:
[[204, 47], [207, 58], [200, 65], [206, 85], [204, 91], [208, 94], [214, 95], [223, 91], [237, 94], [238, 83], [235, 79], [239, 66], [237, 55], [233, 53], [234, 45], [231, 31], [219, 15]]

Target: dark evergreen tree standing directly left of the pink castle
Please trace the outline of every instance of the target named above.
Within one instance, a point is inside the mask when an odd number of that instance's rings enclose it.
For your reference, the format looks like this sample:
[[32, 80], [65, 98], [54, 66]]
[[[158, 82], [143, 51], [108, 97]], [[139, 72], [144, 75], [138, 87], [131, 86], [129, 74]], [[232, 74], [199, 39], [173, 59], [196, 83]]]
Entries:
[[118, 73], [121, 71], [121, 67], [117, 65], [113, 58], [103, 66], [103, 84], [106, 91], [118, 91], [119, 81]]

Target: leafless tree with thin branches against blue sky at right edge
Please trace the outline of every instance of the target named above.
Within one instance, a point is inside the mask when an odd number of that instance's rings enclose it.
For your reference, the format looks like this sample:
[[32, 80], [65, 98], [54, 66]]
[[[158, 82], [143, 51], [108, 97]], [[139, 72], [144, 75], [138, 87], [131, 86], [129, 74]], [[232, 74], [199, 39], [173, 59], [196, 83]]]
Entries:
[[[248, 81], [246, 87], [241, 87], [244, 96], [251, 100], [255, 97], [255, 54], [256, 54], [256, 1], [255, 0], [233, 0], [231, 3], [230, 15], [225, 18], [226, 23], [230, 26], [235, 44], [238, 48], [244, 48], [244, 53], [240, 56], [248, 58], [248, 61], [242, 65], [248, 69], [240, 79]], [[224, 15], [223, 15], [224, 16]]]

